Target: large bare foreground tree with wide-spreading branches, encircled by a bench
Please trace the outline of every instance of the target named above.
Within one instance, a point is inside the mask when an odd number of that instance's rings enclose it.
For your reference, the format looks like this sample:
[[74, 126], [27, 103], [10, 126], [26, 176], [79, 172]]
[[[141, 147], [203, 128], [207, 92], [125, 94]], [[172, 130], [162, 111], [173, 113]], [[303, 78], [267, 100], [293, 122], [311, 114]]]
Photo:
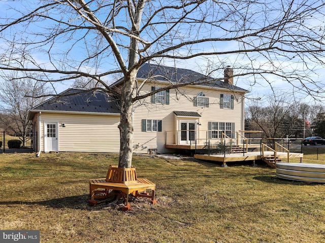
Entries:
[[[6, 1], [0, 22], [0, 69], [39, 72], [46, 81], [91, 78], [121, 104], [119, 167], [131, 167], [132, 106], [157, 92], [209, 80], [169, 83], [140, 93], [136, 75], [145, 62], [197, 63], [222, 80], [237, 68], [250, 85], [282, 77], [294, 90], [319, 96], [312, 75], [323, 65], [321, 0], [62, 0]], [[4, 5], [4, 3], [3, 3]], [[3, 6], [2, 6], [3, 7]], [[4, 7], [3, 7], [4, 8]], [[108, 85], [120, 73], [119, 90]]]

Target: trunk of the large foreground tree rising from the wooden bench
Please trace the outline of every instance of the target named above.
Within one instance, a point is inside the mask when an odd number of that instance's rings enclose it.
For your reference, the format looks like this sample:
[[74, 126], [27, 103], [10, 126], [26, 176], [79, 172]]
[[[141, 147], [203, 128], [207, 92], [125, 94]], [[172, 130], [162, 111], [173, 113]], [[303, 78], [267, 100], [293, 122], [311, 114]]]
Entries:
[[121, 117], [118, 128], [120, 130], [120, 156], [118, 167], [131, 168], [133, 155], [133, 87], [138, 70], [133, 70], [124, 78], [121, 92]]

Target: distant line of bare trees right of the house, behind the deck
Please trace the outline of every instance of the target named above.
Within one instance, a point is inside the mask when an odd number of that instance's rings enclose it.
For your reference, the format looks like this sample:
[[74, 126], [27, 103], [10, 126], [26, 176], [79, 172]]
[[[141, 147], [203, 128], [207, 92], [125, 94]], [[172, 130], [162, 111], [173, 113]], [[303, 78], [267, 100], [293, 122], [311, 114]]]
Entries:
[[245, 111], [245, 130], [263, 131], [265, 138], [325, 138], [325, 106], [296, 101], [286, 94], [250, 100]]

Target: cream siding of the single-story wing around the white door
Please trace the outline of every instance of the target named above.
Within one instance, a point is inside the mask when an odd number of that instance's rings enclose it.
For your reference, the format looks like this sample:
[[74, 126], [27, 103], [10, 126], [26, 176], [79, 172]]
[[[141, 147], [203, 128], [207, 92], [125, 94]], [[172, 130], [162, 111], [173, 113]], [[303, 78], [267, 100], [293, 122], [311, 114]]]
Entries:
[[[41, 114], [41, 151], [44, 123], [58, 123], [58, 150], [69, 152], [119, 152], [118, 115]], [[64, 123], [65, 127], [62, 127]]]

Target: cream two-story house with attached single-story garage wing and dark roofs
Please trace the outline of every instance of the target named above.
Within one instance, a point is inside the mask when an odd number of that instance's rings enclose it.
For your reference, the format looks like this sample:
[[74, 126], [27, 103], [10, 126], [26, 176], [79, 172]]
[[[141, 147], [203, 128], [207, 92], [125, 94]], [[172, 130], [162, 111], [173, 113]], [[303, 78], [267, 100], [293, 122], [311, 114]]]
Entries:
[[[134, 103], [134, 151], [147, 153], [192, 149], [221, 134], [235, 138], [244, 130], [244, 95], [233, 85], [232, 69], [215, 81], [188, 69], [144, 64], [138, 93], [169, 84], [200, 82], [160, 91]], [[204, 82], [206, 80], [206, 82]], [[211, 82], [212, 81], [212, 82]], [[118, 91], [121, 80], [111, 87]], [[69, 89], [30, 109], [38, 151], [119, 152], [119, 102], [104, 92]]]

